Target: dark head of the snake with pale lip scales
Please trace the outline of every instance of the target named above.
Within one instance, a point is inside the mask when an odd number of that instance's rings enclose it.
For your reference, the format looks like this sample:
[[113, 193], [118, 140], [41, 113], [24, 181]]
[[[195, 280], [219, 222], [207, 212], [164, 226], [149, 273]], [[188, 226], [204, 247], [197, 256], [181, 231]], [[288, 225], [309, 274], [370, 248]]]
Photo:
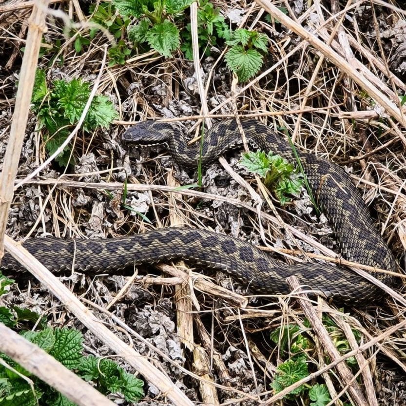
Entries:
[[165, 131], [168, 127], [166, 123], [154, 120], [140, 121], [135, 126], [130, 127], [121, 136], [124, 142], [137, 143], [142, 146], [151, 146], [165, 143], [168, 135]]

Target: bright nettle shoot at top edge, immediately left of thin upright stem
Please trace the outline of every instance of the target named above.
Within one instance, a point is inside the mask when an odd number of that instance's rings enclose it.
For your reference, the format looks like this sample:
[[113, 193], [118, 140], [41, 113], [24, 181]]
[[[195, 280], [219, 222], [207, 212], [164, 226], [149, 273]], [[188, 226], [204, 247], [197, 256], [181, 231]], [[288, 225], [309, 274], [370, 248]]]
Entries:
[[162, 56], [169, 58], [179, 48], [179, 29], [170, 18], [178, 16], [193, 0], [114, 0], [118, 12], [140, 19], [129, 27], [129, 39], [135, 46], [147, 43]]

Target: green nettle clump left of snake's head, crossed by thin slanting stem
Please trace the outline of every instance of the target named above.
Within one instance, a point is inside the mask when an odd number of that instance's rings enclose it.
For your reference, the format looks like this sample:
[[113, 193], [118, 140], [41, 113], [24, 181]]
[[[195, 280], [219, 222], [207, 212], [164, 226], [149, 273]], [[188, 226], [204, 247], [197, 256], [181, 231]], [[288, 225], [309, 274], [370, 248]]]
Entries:
[[[90, 83], [81, 79], [72, 79], [69, 82], [57, 79], [48, 87], [45, 71], [37, 71], [32, 109], [37, 114], [39, 128], [44, 129], [45, 148], [50, 155], [57, 151], [77, 124], [90, 93]], [[117, 117], [114, 104], [108, 97], [95, 96], [83, 122], [83, 131], [108, 128], [111, 121]], [[57, 156], [59, 165], [67, 166], [71, 163], [71, 152], [71, 148], [66, 147]]]

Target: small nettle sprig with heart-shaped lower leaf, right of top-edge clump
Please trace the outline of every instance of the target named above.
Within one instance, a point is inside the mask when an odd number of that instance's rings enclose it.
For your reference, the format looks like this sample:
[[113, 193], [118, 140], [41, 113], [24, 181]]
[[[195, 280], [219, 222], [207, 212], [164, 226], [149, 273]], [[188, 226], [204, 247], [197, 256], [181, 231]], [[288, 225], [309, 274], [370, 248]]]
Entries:
[[268, 53], [268, 40], [265, 34], [240, 28], [227, 41], [231, 45], [225, 56], [227, 66], [241, 82], [247, 81], [261, 69], [263, 54]]

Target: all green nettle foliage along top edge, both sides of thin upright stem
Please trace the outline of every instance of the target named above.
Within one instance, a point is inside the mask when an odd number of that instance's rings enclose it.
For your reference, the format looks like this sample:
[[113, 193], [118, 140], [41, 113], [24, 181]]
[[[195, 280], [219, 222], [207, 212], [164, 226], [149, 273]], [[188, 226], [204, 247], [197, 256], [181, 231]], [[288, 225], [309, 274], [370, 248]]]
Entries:
[[[97, 8], [90, 7], [93, 13], [91, 21], [103, 26], [117, 42], [109, 48], [110, 65], [124, 64], [132, 49], [128, 39], [141, 51], [154, 49], [164, 57], [171, 57], [177, 49], [192, 59], [191, 24], [184, 25], [184, 11], [193, 0], [113, 0], [101, 2]], [[137, 22], [130, 25], [131, 19]], [[92, 28], [93, 39], [98, 30]], [[231, 29], [226, 24], [220, 9], [215, 8], [209, 0], [202, 0], [197, 9], [197, 32], [199, 44], [206, 56], [210, 55], [211, 46], [220, 41], [231, 39]], [[75, 49], [80, 52], [88, 39], [78, 37]]]

